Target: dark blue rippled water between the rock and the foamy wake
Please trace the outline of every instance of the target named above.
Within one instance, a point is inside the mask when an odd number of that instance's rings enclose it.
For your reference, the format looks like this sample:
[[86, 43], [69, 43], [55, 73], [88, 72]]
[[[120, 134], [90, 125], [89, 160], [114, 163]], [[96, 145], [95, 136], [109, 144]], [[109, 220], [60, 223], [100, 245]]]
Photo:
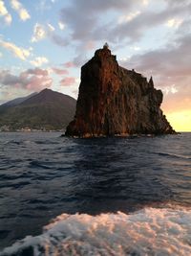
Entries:
[[0, 248], [62, 213], [191, 206], [191, 133], [72, 139], [0, 133]]

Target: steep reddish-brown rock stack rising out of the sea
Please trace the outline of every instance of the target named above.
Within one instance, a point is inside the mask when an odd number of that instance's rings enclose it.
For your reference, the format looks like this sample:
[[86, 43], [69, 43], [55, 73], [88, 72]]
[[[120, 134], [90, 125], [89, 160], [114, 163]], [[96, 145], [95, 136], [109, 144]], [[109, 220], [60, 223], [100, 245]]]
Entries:
[[81, 68], [74, 121], [67, 136], [168, 134], [175, 131], [159, 106], [162, 92], [134, 70], [118, 65], [108, 47]]

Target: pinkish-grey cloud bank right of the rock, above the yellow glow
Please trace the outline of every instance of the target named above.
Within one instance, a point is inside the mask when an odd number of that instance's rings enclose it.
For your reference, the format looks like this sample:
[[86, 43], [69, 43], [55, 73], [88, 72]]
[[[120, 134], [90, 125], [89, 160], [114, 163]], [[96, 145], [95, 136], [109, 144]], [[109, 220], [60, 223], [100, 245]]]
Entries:
[[164, 92], [165, 111], [191, 109], [191, 35], [183, 35], [161, 49], [134, 55], [120, 64], [154, 78]]

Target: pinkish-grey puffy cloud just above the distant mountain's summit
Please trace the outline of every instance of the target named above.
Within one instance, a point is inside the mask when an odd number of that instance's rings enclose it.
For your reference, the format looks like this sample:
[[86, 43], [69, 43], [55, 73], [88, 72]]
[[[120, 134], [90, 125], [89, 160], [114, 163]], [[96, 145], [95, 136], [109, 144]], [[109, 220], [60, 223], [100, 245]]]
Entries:
[[9, 88], [39, 91], [45, 87], [51, 87], [53, 80], [49, 77], [47, 70], [35, 68], [21, 72], [19, 76], [12, 75], [9, 70], [2, 70], [0, 83]]

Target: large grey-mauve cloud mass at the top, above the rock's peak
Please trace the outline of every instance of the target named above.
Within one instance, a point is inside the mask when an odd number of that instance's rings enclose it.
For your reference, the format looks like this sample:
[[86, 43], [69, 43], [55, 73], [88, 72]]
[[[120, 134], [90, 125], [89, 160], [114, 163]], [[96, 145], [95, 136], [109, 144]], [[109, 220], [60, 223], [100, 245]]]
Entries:
[[[61, 10], [60, 21], [71, 32], [73, 43], [92, 40], [127, 45], [138, 43], [145, 33], [157, 26], [168, 24], [168, 20], [174, 19], [174, 24], [172, 21], [169, 24], [178, 28], [180, 19], [190, 14], [190, 1], [183, 1], [182, 5], [171, 4], [172, 1], [167, 0], [160, 3], [163, 8], [158, 11], [155, 6], [152, 9], [145, 8], [148, 5], [145, 0], [71, 0], [70, 5]], [[105, 16], [109, 17], [110, 13], [115, 13], [115, 16], [111, 20], [106, 19]]]

